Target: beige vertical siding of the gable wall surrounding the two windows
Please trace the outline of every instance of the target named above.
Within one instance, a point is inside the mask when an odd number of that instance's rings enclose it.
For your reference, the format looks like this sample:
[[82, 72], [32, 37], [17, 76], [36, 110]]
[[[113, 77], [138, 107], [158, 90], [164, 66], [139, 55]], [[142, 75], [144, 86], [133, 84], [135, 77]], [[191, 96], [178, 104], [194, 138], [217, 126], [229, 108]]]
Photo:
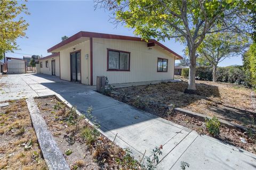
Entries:
[[[130, 71], [107, 71], [107, 48], [130, 52]], [[98, 75], [108, 77], [109, 83], [173, 79], [174, 55], [159, 46], [150, 48], [141, 41], [93, 38], [93, 85]], [[167, 72], [157, 72], [158, 57], [168, 59]]]

